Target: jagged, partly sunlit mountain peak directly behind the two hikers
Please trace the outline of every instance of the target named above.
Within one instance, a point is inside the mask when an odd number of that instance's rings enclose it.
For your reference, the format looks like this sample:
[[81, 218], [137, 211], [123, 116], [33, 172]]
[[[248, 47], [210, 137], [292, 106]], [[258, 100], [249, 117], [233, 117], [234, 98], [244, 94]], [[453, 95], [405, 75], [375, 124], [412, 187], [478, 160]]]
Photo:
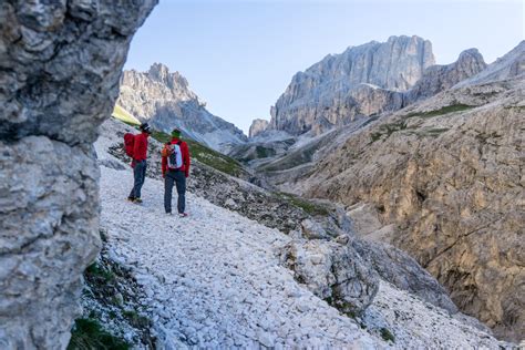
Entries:
[[234, 124], [209, 113], [184, 76], [161, 63], [144, 73], [124, 71], [117, 103], [157, 130], [169, 133], [175, 126], [182, 127], [215, 150], [225, 151], [247, 140]]

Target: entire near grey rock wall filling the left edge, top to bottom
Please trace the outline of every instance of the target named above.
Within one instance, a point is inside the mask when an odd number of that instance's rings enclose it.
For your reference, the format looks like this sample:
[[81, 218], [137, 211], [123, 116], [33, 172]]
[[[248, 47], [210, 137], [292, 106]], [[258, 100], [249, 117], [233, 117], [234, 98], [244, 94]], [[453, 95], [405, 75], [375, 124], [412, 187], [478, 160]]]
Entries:
[[[92, 143], [113, 110], [137, 0], [0, 7], [0, 348], [65, 349], [100, 249]], [[35, 152], [38, 151], [38, 152]]]

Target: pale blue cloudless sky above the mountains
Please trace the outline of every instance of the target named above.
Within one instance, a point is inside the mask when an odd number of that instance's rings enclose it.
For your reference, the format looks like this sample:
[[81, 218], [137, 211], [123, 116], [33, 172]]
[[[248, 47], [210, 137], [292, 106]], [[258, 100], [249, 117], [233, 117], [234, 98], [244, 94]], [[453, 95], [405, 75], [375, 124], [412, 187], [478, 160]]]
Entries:
[[161, 0], [133, 39], [125, 69], [162, 62], [207, 109], [246, 133], [291, 76], [349, 45], [416, 34], [437, 63], [480, 49], [486, 62], [525, 38], [525, 0]]

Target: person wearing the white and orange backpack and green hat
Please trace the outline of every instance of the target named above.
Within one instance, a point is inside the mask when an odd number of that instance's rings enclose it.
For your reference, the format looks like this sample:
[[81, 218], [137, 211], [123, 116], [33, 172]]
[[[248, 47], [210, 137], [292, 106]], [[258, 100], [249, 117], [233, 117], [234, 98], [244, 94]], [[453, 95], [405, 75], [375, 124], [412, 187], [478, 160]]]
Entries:
[[164, 209], [172, 214], [173, 184], [177, 187], [178, 216], [186, 217], [186, 177], [189, 175], [189, 150], [187, 143], [181, 140], [181, 130], [174, 128], [172, 141], [162, 150], [162, 175], [164, 177]]

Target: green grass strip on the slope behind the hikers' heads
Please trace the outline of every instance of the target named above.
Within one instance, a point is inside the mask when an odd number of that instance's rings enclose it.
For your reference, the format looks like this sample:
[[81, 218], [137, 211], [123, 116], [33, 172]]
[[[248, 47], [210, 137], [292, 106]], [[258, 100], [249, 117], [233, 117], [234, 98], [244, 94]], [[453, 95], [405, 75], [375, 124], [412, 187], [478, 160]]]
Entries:
[[[159, 131], [154, 131], [152, 133], [152, 137], [162, 143], [166, 143], [172, 140], [171, 135]], [[196, 141], [189, 138], [184, 138], [184, 141], [188, 144], [192, 157], [199, 161], [200, 163], [204, 163], [231, 176], [243, 177], [248, 175], [243, 165], [234, 158], [214, 151]]]

